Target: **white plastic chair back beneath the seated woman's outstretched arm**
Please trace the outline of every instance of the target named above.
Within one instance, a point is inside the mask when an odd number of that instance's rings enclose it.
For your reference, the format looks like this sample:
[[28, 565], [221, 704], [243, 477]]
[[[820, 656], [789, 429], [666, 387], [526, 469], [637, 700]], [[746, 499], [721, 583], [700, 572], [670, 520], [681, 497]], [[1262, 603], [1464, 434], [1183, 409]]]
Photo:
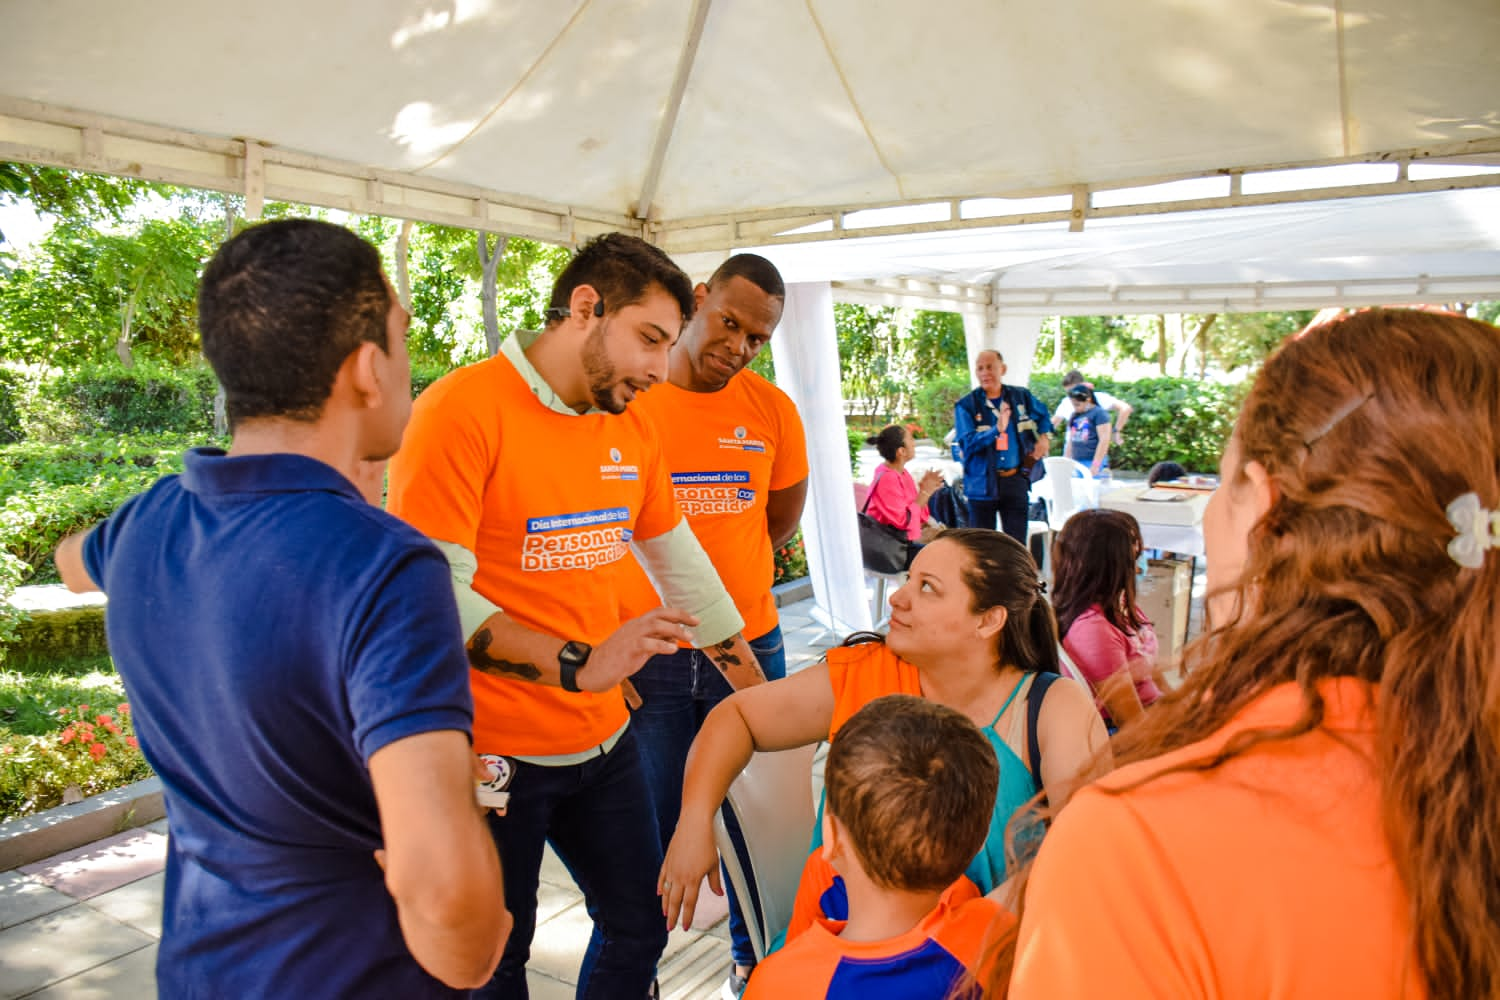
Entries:
[[740, 823], [732, 837], [714, 816], [714, 843], [735, 888], [756, 958], [792, 922], [796, 883], [813, 843], [813, 756], [818, 747], [758, 753], [729, 786], [724, 810]]

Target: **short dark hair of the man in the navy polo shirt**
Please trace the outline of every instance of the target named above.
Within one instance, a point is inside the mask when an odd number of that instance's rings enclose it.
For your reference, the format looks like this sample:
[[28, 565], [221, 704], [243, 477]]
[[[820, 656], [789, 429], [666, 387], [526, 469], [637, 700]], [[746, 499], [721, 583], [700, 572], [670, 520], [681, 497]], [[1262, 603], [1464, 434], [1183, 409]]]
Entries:
[[342, 226], [280, 219], [228, 240], [202, 271], [198, 330], [230, 426], [316, 420], [344, 360], [387, 349], [388, 312], [380, 252]]

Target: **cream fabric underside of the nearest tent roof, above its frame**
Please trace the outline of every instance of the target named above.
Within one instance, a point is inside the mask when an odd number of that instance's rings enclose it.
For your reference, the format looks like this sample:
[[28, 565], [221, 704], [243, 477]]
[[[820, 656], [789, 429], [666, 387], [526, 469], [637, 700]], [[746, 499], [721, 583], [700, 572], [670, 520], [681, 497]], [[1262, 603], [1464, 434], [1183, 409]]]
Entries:
[[273, 190], [368, 198], [314, 181], [336, 162], [564, 241], [645, 219], [722, 249], [798, 213], [1492, 159], [1497, 43], [1494, 0], [50, 0], [6, 4], [0, 156], [146, 165], [16, 124], [74, 109], [260, 144]]

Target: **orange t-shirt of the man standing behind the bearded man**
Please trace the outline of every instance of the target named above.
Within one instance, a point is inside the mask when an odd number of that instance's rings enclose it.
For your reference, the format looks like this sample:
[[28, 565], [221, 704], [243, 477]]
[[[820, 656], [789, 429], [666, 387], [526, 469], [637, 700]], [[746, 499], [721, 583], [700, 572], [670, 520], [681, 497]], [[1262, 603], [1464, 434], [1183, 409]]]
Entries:
[[[662, 438], [676, 502], [746, 619], [746, 637], [771, 631], [776, 567], [765, 505], [770, 490], [807, 478], [807, 439], [792, 400], [747, 370], [717, 393], [656, 385], [630, 408]], [[626, 562], [624, 616], [660, 607], [636, 558]]]

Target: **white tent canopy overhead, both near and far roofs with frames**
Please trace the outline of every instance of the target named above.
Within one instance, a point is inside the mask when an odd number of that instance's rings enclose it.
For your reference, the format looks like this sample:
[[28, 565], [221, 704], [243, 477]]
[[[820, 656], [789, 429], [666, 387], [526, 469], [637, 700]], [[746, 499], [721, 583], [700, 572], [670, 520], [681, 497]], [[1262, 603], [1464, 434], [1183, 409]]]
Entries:
[[1500, 297], [1494, 0], [12, 0], [0, 24], [0, 159], [250, 214], [627, 229], [698, 274], [764, 246], [843, 297], [960, 307], [970, 348], [1042, 313]]

